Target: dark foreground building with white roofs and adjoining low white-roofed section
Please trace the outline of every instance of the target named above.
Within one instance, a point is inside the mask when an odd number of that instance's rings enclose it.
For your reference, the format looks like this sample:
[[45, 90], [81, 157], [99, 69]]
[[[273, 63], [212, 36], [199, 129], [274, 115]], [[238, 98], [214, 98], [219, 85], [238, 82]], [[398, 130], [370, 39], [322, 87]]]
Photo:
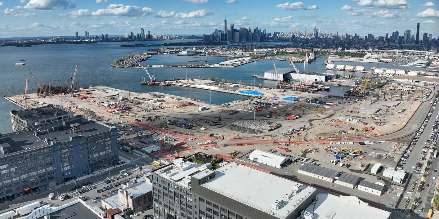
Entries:
[[[297, 219], [307, 214], [305, 218], [313, 219], [309, 215], [327, 215], [324, 211], [336, 205], [335, 199], [339, 199], [338, 202], [356, 199], [346, 206], [365, 211], [364, 218], [387, 219], [390, 215], [390, 212], [373, 208], [357, 197], [319, 194], [313, 187], [263, 169], [236, 162], [222, 163], [215, 170], [210, 167], [210, 163], [199, 165], [177, 158], [154, 170], [155, 218]], [[342, 218], [345, 212], [345, 208], [331, 208], [331, 213], [337, 217], [330, 218]]]

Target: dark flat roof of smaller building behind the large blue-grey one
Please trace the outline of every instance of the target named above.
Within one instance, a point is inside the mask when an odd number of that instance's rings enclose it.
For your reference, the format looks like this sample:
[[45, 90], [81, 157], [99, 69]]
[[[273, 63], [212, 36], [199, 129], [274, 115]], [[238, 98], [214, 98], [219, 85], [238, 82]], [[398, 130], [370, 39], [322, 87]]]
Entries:
[[63, 109], [60, 109], [58, 107], [53, 106], [44, 106], [39, 108], [32, 108], [32, 109], [25, 109], [16, 111], [11, 111], [13, 115], [17, 115], [19, 118], [23, 120], [28, 120], [28, 124], [34, 124], [35, 122], [38, 122], [40, 120], [51, 118], [54, 116], [63, 116], [73, 113], [65, 111]]

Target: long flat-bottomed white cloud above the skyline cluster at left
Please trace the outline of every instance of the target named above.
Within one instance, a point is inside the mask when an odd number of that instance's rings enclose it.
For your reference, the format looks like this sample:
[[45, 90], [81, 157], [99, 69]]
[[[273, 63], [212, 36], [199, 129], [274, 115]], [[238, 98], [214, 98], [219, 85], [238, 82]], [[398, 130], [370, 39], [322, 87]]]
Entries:
[[83, 17], [83, 16], [125, 16], [125, 17], [138, 17], [147, 16], [152, 12], [150, 7], [137, 7], [123, 4], [110, 4], [106, 8], [101, 8], [97, 11], [88, 9], [80, 9], [77, 11], [70, 11], [65, 14], [59, 14], [61, 16]]

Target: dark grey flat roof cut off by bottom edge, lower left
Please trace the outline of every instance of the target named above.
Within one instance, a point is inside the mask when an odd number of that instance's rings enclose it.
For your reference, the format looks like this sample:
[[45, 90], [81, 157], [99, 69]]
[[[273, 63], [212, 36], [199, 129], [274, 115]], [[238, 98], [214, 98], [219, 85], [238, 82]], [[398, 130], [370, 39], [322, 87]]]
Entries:
[[[41, 217], [43, 218], [43, 217]], [[51, 213], [50, 218], [68, 219], [68, 218], [86, 218], [86, 219], [101, 219], [95, 215], [90, 209], [86, 208], [82, 203], [63, 208], [57, 212]]]

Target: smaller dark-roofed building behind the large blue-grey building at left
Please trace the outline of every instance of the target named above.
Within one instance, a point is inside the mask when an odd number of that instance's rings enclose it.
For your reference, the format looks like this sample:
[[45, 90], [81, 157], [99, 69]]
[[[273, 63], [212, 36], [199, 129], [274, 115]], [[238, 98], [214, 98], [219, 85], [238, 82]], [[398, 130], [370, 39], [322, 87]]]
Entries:
[[25, 130], [28, 126], [39, 125], [46, 122], [59, 121], [72, 117], [73, 112], [65, 111], [64, 109], [54, 107], [51, 104], [44, 107], [25, 109], [20, 111], [12, 110], [12, 131], [16, 132], [20, 130]]

